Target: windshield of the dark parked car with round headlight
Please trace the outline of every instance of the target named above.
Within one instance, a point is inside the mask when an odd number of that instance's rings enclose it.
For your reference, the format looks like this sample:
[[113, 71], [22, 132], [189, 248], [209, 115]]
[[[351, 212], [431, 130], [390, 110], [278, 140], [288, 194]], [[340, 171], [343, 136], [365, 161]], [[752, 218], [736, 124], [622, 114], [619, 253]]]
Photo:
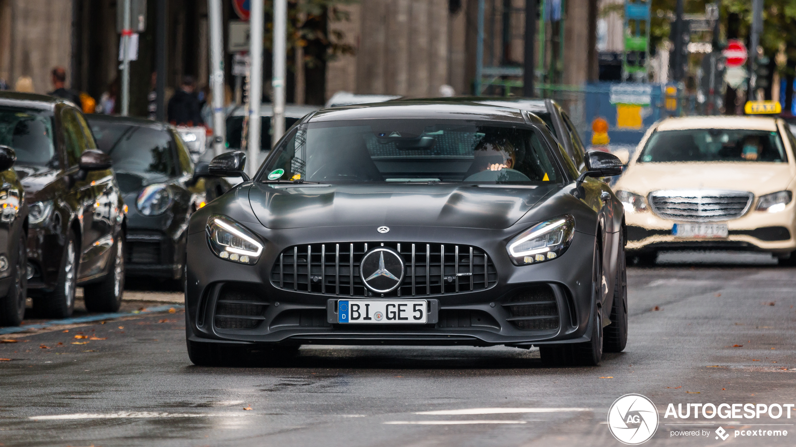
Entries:
[[102, 152], [113, 160], [114, 171], [174, 175], [174, 141], [167, 130], [123, 123], [92, 121]]

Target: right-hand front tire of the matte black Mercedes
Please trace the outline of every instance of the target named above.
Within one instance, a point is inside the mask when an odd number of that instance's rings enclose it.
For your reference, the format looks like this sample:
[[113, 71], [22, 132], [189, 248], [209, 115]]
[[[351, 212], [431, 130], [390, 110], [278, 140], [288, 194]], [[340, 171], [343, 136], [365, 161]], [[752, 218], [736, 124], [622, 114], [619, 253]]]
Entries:
[[552, 366], [596, 366], [603, 358], [603, 313], [597, 303], [603, 283], [603, 250], [595, 242], [594, 268], [591, 273], [591, 301], [594, 309], [591, 318], [591, 339], [582, 343], [540, 345], [539, 353], [544, 364]]

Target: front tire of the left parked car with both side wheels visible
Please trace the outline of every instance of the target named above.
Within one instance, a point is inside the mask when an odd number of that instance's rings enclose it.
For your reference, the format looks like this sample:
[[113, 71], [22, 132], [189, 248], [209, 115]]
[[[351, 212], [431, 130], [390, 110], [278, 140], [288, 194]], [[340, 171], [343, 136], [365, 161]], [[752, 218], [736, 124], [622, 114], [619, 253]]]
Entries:
[[33, 299], [33, 310], [45, 318], [68, 318], [75, 310], [75, 289], [77, 287], [77, 269], [80, 266], [80, 247], [73, 230], [69, 230], [64, 245], [64, 254], [60, 261], [58, 283], [52, 293], [37, 296]]

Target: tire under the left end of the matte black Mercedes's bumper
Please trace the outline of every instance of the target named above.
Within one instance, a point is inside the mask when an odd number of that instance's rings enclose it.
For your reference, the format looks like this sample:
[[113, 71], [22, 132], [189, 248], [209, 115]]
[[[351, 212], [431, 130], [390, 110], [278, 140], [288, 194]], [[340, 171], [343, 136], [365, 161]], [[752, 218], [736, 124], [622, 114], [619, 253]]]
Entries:
[[276, 366], [298, 351], [298, 345], [276, 345], [252, 349], [224, 343], [186, 341], [188, 357], [197, 366], [213, 367], [266, 367]]

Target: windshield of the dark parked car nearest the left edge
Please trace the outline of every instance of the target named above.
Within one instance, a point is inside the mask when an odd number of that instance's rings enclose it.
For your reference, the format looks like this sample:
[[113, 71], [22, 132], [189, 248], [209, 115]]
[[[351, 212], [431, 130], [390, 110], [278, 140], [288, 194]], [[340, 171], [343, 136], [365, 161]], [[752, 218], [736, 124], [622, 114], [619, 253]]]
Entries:
[[0, 106], [0, 145], [13, 148], [19, 164], [57, 164], [53, 113]]

